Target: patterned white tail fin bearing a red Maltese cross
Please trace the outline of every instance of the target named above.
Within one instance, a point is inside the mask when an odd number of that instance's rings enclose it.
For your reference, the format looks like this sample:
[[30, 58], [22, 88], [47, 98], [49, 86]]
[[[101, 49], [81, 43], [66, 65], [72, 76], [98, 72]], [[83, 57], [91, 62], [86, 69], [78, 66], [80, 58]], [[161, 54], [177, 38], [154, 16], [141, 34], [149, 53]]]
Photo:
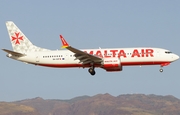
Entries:
[[47, 51], [47, 49], [43, 49], [33, 45], [12, 21], [6, 22], [6, 27], [9, 33], [12, 48], [15, 52], [26, 53]]

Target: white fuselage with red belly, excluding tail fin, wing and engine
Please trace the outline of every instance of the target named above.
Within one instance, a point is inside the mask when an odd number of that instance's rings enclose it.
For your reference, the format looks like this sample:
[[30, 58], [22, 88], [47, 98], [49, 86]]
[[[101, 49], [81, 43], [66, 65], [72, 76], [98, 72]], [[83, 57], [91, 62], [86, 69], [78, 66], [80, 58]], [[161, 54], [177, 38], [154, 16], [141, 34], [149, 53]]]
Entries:
[[[161, 65], [165, 66], [179, 58], [178, 55], [161, 48], [107, 48], [107, 49], [83, 49], [91, 55], [101, 58], [119, 58], [122, 66], [131, 65]], [[8, 56], [10, 58], [47, 67], [90, 67], [90, 64], [82, 64], [69, 50], [55, 50], [42, 52], [27, 52], [26, 56]], [[101, 65], [95, 65], [101, 67]]]

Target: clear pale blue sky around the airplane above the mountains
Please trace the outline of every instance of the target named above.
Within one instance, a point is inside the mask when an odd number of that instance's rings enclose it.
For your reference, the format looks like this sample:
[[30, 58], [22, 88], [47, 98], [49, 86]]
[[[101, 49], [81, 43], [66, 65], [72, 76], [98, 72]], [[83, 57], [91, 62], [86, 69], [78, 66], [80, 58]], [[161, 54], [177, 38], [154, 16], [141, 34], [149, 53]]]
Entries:
[[[0, 47], [12, 50], [5, 26], [13, 21], [39, 47], [60, 49], [59, 35], [78, 49], [159, 47], [180, 55], [179, 0], [1, 0]], [[180, 60], [164, 67], [123, 67], [121, 72], [47, 68], [24, 64], [0, 51], [0, 101], [71, 99], [109, 93], [180, 98]]]

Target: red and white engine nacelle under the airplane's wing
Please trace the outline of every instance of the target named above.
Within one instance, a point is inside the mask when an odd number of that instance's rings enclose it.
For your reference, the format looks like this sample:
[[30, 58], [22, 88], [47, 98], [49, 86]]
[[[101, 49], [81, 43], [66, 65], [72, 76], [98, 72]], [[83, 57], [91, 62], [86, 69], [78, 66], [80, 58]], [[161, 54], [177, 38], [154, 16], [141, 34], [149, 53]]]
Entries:
[[102, 68], [108, 72], [122, 71], [120, 58], [104, 58]]

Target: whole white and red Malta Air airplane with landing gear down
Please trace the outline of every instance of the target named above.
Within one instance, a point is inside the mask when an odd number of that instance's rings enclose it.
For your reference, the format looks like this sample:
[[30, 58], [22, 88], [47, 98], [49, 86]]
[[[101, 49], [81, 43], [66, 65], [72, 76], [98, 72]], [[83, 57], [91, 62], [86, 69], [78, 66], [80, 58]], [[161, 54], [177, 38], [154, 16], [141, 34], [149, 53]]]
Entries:
[[62, 35], [62, 48], [66, 50], [49, 50], [33, 45], [22, 31], [12, 22], [7, 21], [6, 27], [12, 44], [12, 50], [2, 49], [7, 57], [34, 64], [54, 68], [89, 68], [88, 72], [95, 75], [95, 68], [107, 72], [122, 71], [123, 66], [169, 65], [179, 59], [177, 54], [162, 48], [105, 48], [77, 49], [68, 44]]

